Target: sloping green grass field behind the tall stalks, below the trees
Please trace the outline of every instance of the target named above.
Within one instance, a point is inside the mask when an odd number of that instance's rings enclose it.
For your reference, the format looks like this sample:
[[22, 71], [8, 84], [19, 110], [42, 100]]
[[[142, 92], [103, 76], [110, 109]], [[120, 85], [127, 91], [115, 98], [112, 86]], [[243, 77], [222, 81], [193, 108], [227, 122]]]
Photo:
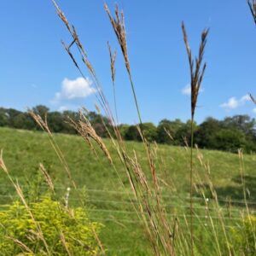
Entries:
[[[104, 142], [113, 157], [119, 177], [100, 150], [94, 154], [82, 138], [61, 134], [55, 134], [54, 137], [65, 155], [73, 179], [79, 188], [77, 191], [71, 189], [69, 203], [78, 205], [79, 199], [84, 198], [84, 203], [90, 208], [90, 217], [105, 226], [101, 232], [101, 240], [107, 247], [108, 253], [110, 255], [150, 254], [147, 239], [143, 235], [142, 224], [129, 201], [130, 184], [110, 141], [105, 140]], [[137, 152], [143, 170], [147, 172], [147, 158], [144, 154], [143, 144], [127, 142], [126, 146], [129, 151], [132, 152], [134, 149]], [[152, 147], [155, 147], [155, 151], [157, 151], [158, 177], [165, 184], [163, 195], [167, 213], [170, 215], [187, 214], [186, 212], [189, 212], [189, 152], [186, 148], [166, 145], [152, 145]], [[54, 180], [57, 194], [60, 197], [64, 197], [67, 188], [71, 187], [67, 172], [51, 148], [45, 133], [0, 128], [0, 148], [3, 149], [3, 159], [11, 176], [17, 178], [27, 198], [35, 196], [37, 193], [38, 195], [44, 193], [44, 189], [46, 189], [46, 184], [38, 171], [39, 163], [44, 164]], [[218, 192], [221, 206], [224, 211], [226, 209], [225, 214], [236, 217], [233, 212], [244, 207], [238, 156], [210, 150], [201, 150], [200, 154], [203, 155], [203, 160], [211, 166], [212, 183]], [[244, 166], [248, 201], [252, 203], [251, 207], [255, 207], [256, 155], [245, 155]], [[205, 183], [206, 171], [197, 157], [195, 157], [195, 170], [196, 177], [201, 177], [201, 184]], [[119, 178], [125, 184], [125, 189]], [[197, 180], [195, 178], [195, 183]], [[195, 195], [196, 193], [195, 191]], [[1, 204], [8, 203], [15, 196], [17, 195], [15, 195], [15, 190], [8, 178], [3, 172], [0, 173]], [[204, 212], [204, 204], [201, 199], [198, 194], [195, 198], [195, 208], [198, 208], [198, 221], [206, 221], [200, 217]], [[226, 199], [229, 199], [230, 203]], [[209, 200], [211, 201], [211, 198]], [[254, 202], [255, 205], [253, 205]], [[229, 209], [227, 209], [227, 205], [229, 205]], [[205, 246], [207, 247], [207, 245]], [[213, 254], [209, 252], [209, 255]]]

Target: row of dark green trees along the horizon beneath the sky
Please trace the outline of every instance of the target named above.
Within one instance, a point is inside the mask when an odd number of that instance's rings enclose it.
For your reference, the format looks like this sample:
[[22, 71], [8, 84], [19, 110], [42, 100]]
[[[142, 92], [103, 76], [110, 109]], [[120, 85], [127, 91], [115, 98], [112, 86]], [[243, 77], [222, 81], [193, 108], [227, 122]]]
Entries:
[[[50, 112], [49, 108], [42, 105], [32, 108], [32, 110], [42, 117], [47, 113], [47, 122], [51, 131], [67, 134], [77, 133], [68, 124], [67, 119], [69, 117], [78, 121], [78, 112]], [[113, 132], [110, 120], [101, 114], [88, 112], [86, 117], [100, 137], [108, 137], [108, 132]], [[256, 121], [248, 115], [234, 115], [222, 120], [208, 117], [200, 125], [196, 123], [193, 125], [195, 143], [199, 148], [230, 152], [236, 152], [238, 148], [242, 148], [247, 153], [256, 152]], [[33, 131], [40, 130], [29, 113], [20, 112], [13, 108], [0, 108], [0, 126]], [[162, 119], [157, 126], [153, 123], [143, 123], [141, 129], [149, 142], [183, 146], [190, 143], [190, 126], [190, 120], [183, 122], [180, 119]], [[142, 138], [137, 128], [137, 125], [119, 125], [120, 134], [125, 140], [140, 142]]]

